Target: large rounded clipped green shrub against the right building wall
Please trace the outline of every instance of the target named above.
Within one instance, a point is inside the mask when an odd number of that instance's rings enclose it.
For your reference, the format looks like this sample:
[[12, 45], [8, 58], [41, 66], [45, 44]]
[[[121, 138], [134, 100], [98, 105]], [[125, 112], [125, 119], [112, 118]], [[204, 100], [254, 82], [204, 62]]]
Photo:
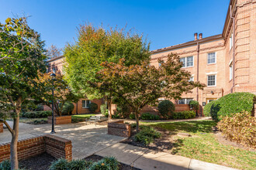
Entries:
[[251, 112], [254, 105], [253, 93], [230, 93], [216, 100], [211, 109], [210, 115], [214, 121], [220, 121], [220, 116], [233, 116], [241, 111]]

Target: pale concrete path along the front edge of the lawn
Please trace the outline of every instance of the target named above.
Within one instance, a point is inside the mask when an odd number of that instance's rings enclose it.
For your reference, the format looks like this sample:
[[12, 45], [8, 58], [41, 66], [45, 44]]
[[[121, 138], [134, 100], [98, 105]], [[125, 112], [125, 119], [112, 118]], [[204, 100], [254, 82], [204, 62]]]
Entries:
[[95, 155], [102, 157], [114, 156], [123, 164], [147, 170], [234, 170], [234, 168], [201, 162], [192, 158], [171, 155], [162, 151], [153, 151], [147, 148], [140, 148], [123, 143], [112, 145], [109, 148], [96, 152]]

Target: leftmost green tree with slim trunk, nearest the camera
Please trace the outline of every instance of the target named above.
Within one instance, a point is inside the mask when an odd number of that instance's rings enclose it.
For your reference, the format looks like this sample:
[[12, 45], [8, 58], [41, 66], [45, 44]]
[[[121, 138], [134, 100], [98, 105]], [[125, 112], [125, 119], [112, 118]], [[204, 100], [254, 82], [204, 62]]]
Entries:
[[[17, 141], [19, 114], [38, 93], [38, 72], [46, 71], [46, 50], [40, 34], [27, 25], [26, 18], [6, 19], [0, 23], [0, 123], [12, 134], [11, 168], [18, 169]], [[5, 118], [13, 118], [13, 127]]]

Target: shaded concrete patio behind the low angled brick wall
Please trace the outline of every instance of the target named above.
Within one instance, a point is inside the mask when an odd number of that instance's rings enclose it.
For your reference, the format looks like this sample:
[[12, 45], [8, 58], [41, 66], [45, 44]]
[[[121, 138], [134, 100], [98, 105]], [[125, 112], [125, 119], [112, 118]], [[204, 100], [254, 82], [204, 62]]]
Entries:
[[[8, 121], [12, 127], [12, 121]], [[33, 138], [43, 134], [50, 134], [51, 124], [22, 124], [19, 123], [19, 140]], [[85, 122], [77, 124], [61, 124], [55, 126], [56, 136], [72, 141], [73, 159], [85, 158], [101, 151], [125, 138], [107, 134], [106, 125], [88, 124]], [[5, 128], [0, 134], [0, 144], [8, 143], [12, 139], [10, 132]]]

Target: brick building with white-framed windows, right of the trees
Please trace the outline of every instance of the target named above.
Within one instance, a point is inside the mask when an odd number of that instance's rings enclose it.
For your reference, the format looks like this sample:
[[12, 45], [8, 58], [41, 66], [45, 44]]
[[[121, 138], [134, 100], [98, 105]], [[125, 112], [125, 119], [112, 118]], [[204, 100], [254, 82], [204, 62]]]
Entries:
[[192, 73], [191, 80], [205, 83], [204, 90], [182, 94], [176, 104], [198, 100], [205, 105], [233, 92], [256, 93], [256, 1], [230, 0], [227, 17], [220, 35], [202, 37], [195, 33], [189, 42], [153, 50], [151, 64], [177, 53], [183, 69]]

